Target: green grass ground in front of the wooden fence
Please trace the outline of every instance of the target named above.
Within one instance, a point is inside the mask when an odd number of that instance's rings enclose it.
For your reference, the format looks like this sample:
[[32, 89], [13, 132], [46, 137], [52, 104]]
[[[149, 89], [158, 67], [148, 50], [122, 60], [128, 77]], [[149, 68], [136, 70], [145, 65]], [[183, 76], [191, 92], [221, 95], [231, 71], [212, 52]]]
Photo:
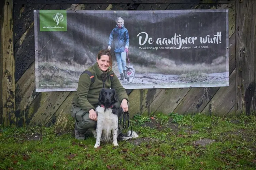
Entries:
[[99, 149], [93, 137], [76, 140], [70, 124], [61, 134], [56, 126], [0, 127], [0, 169], [256, 168], [255, 116], [170, 113], [136, 115], [131, 122], [139, 138], [118, 142], [119, 147], [101, 143]]

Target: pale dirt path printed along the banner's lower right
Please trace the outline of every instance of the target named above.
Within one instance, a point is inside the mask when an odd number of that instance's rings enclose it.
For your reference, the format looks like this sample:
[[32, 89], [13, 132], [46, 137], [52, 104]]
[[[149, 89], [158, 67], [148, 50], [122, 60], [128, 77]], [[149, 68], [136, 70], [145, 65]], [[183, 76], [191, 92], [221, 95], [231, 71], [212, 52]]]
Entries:
[[[118, 75], [120, 79], [120, 75]], [[226, 73], [212, 73], [208, 74], [207, 78], [202, 78], [201, 80], [187, 80], [182, 81], [179, 75], [165, 75], [165, 74], [157, 74], [157, 73], [148, 73], [148, 74], [140, 74], [136, 73], [136, 77], [134, 79], [133, 84], [164, 84], [164, 83], [193, 83], [193, 82], [219, 82], [219, 81], [228, 81], [226, 77]], [[129, 84], [127, 79], [125, 79], [123, 84]]]

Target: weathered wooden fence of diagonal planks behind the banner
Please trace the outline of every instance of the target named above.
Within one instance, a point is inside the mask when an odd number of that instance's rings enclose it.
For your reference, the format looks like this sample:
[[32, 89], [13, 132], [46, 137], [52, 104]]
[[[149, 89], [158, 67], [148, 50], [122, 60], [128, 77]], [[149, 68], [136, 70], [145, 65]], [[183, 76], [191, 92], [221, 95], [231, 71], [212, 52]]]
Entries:
[[5, 0], [1, 6], [0, 124], [4, 126], [50, 126], [60, 112], [70, 112], [73, 92], [35, 92], [35, 9], [228, 9], [229, 87], [127, 90], [129, 111], [228, 117], [256, 110], [255, 0]]

